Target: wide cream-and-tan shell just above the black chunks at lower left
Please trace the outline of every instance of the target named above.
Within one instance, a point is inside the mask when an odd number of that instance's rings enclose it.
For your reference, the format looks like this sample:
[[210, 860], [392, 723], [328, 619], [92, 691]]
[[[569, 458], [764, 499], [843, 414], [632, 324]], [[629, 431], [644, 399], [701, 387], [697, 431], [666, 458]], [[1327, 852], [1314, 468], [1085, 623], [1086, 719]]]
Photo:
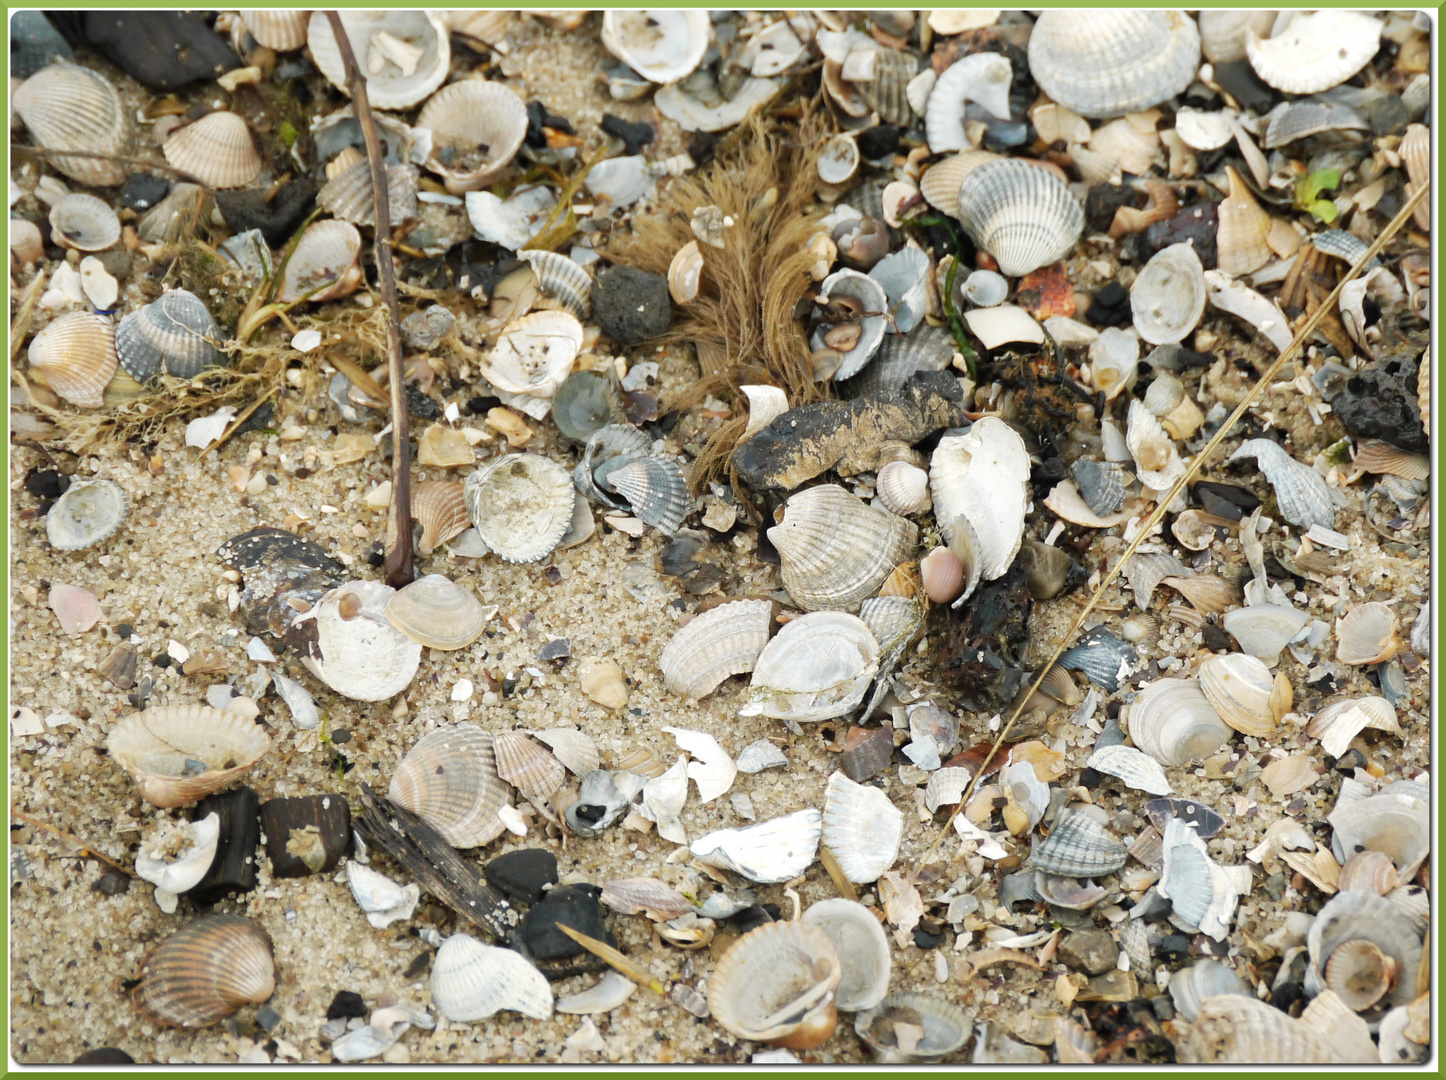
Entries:
[[270, 749], [254, 720], [208, 706], [158, 706], [106, 736], [111, 758], [153, 807], [184, 807], [239, 779]]

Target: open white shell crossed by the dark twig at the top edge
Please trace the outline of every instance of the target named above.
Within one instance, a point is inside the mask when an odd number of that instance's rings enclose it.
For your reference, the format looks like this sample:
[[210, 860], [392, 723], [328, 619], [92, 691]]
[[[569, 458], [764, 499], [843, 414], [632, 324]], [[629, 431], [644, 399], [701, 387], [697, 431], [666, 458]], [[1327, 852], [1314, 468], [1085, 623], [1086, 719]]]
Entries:
[[[408, 9], [343, 12], [341, 25], [366, 72], [372, 108], [411, 108], [437, 90], [451, 67], [447, 23], [434, 12]], [[317, 69], [350, 97], [341, 49], [325, 12], [312, 12], [307, 45]]]

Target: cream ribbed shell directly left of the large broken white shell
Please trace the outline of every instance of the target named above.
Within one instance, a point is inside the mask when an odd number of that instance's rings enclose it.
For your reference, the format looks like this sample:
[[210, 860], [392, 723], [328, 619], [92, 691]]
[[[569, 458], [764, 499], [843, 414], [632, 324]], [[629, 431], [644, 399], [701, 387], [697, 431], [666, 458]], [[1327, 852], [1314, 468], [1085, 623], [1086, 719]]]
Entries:
[[918, 539], [918, 526], [837, 484], [795, 493], [768, 531], [788, 596], [805, 612], [853, 610], [878, 591]]

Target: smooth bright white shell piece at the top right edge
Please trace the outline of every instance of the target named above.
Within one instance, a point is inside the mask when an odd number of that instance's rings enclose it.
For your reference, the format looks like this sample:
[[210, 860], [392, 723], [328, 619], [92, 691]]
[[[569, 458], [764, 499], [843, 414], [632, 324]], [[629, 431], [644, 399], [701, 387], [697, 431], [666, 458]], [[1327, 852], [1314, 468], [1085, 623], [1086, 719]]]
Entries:
[[1355, 75], [1381, 46], [1381, 20], [1359, 12], [1297, 14], [1268, 39], [1251, 30], [1245, 55], [1267, 85], [1319, 94]]

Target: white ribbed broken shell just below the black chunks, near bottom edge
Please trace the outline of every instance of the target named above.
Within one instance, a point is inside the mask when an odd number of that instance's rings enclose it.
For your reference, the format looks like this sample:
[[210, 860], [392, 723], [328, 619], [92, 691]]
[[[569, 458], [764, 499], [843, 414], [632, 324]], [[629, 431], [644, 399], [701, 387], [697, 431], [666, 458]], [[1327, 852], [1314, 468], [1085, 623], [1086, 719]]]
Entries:
[[503, 1009], [534, 1019], [552, 1015], [552, 987], [536, 967], [510, 948], [453, 934], [432, 959], [432, 1005], [453, 1024], [486, 1019]]

